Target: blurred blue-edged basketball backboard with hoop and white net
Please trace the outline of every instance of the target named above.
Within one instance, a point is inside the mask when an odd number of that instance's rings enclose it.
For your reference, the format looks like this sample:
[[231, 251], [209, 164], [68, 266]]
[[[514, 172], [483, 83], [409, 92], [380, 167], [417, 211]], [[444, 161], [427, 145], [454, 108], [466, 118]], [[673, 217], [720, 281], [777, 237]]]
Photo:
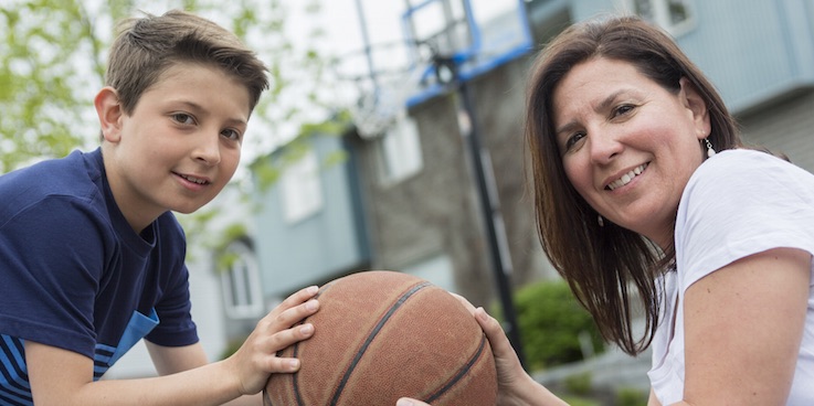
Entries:
[[[400, 110], [531, 51], [525, 0], [356, 0], [363, 45], [340, 58], [351, 114], [374, 136]], [[441, 68], [438, 68], [441, 67]], [[452, 74], [455, 76], [451, 76]]]

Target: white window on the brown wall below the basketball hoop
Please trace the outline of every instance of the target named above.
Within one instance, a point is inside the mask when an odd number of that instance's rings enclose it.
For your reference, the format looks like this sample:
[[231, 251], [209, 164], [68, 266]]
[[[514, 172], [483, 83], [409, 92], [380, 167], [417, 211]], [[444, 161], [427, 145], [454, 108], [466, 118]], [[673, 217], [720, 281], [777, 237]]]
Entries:
[[379, 142], [385, 182], [398, 182], [421, 171], [419, 126], [411, 117], [400, 117]]

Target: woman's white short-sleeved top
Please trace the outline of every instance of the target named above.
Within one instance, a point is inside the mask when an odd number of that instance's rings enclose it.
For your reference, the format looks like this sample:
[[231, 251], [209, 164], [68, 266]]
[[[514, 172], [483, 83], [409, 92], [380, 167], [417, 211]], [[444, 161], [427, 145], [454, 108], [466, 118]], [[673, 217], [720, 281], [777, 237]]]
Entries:
[[[739, 258], [778, 247], [814, 255], [814, 174], [764, 152], [721, 151], [693, 174], [678, 205], [676, 271], [665, 276], [662, 321], [648, 372], [663, 405], [683, 399], [687, 288]], [[675, 331], [673, 317], [675, 314]], [[672, 334], [673, 333], [673, 334]], [[786, 405], [814, 405], [814, 265], [808, 310]]]

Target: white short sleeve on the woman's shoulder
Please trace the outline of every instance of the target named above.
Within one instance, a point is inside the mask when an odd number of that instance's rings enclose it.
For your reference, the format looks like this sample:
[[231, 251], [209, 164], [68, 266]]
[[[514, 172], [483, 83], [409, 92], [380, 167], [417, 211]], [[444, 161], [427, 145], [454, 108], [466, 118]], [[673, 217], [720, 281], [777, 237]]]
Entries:
[[723, 151], [693, 174], [676, 220], [683, 290], [734, 260], [779, 247], [814, 254], [814, 175], [746, 150]]

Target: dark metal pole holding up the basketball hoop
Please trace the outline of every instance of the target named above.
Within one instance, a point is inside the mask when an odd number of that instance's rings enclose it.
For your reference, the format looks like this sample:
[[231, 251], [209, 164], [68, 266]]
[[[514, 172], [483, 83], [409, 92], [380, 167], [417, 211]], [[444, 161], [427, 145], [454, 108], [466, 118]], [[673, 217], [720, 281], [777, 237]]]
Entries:
[[[457, 75], [455, 75], [455, 77], [457, 77]], [[503, 227], [504, 222], [503, 215], [500, 214], [497, 190], [494, 186], [494, 179], [491, 177], [487, 177], [487, 173], [493, 173], [490, 160], [488, 160], [488, 151], [486, 151], [480, 145], [472, 90], [469, 89], [466, 81], [457, 81], [456, 85], [463, 103], [463, 111], [461, 113], [467, 116], [467, 120], [469, 122], [469, 129], [468, 131], [464, 131], [464, 137], [466, 138], [466, 143], [469, 147], [472, 163], [475, 170], [475, 180], [480, 201], [480, 209], [483, 211], [484, 225], [486, 227], [486, 235], [489, 244], [489, 256], [504, 312], [504, 330], [506, 330], [506, 335], [508, 336], [511, 346], [515, 348], [515, 352], [520, 359], [520, 363], [525, 367], [526, 356], [522, 349], [522, 342], [520, 341], [520, 329], [517, 324], [515, 303], [511, 299], [511, 259], [508, 256], [509, 253], [506, 244], [505, 228]], [[488, 168], [486, 168], [487, 165]], [[489, 180], [493, 180], [493, 182], [489, 182]]]

